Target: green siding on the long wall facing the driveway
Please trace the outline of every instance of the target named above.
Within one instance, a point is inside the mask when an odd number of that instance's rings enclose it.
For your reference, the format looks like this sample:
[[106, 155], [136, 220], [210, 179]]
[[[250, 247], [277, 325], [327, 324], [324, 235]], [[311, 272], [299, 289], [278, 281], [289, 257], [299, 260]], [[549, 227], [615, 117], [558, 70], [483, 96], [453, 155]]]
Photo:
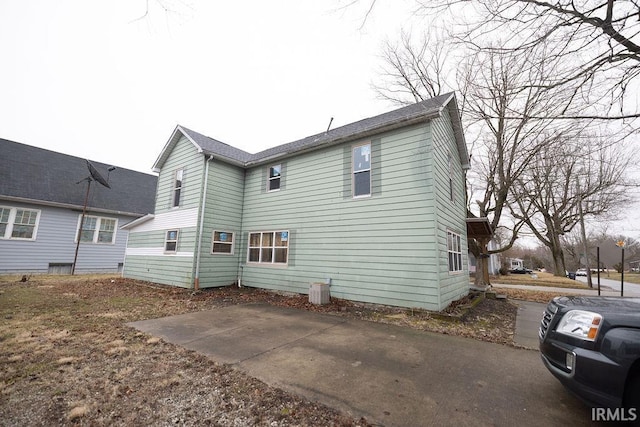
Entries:
[[[371, 139], [371, 197], [350, 190], [351, 147], [366, 141], [288, 159], [284, 191], [263, 193], [264, 169], [250, 169], [243, 285], [307, 293], [330, 278], [339, 298], [440, 309], [430, 137], [426, 124]], [[289, 264], [247, 263], [248, 233], [279, 230], [290, 233]]]

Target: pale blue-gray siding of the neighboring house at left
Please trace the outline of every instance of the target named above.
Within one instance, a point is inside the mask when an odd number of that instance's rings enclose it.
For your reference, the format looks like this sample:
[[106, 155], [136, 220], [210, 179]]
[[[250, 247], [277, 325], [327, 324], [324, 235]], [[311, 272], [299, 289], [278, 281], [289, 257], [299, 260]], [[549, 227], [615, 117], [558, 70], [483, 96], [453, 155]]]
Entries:
[[[73, 263], [80, 211], [1, 200], [0, 205], [40, 211], [35, 240], [0, 239], [0, 273], [47, 273], [50, 263]], [[89, 214], [117, 219], [115, 243], [80, 243], [76, 273], [117, 273], [118, 265], [124, 262], [127, 244], [127, 231], [119, 227], [135, 218]]]

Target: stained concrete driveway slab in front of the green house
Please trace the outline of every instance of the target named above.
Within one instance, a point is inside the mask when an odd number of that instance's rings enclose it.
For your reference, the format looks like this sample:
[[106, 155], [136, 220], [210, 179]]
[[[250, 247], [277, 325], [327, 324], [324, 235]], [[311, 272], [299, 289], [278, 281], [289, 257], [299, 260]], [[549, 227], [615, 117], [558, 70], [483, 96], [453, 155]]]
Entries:
[[130, 326], [374, 424], [592, 424], [536, 350], [262, 304]]

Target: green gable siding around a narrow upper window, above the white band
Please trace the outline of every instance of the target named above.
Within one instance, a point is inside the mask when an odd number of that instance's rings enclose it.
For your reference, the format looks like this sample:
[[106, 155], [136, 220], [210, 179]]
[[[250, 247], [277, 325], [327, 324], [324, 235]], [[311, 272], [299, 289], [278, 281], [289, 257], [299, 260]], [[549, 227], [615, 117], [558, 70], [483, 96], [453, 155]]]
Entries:
[[[204, 157], [184, 136], [180, 138], [158, 176], [155, 213], [171, 209], [193, 208], [199, 205], [202, 191]], [[175, 172], [184, 170], [180, 206], [173, 207]]]

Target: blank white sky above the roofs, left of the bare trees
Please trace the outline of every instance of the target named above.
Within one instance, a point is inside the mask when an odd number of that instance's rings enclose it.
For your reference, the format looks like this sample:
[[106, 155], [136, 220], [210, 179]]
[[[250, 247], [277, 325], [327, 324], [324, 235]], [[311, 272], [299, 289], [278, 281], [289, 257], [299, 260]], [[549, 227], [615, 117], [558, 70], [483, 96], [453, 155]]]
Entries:
[[371, 89], [408, 16], [339, 0], [0, 2], [0, 138], [150, 172], [177, 124], [249, 152], [395, 108]]

